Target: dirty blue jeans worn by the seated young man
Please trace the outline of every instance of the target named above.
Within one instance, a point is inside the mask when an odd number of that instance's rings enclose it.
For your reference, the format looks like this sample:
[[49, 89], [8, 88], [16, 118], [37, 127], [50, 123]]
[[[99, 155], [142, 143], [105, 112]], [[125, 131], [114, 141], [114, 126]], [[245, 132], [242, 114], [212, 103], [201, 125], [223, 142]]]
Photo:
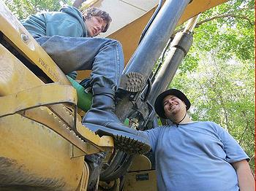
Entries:
[[120, 84], [124, 69], [124, 53], [120, 42], [67, 36], [41, 36], [35, 39], [65, 74], [91, 69], [92, 87], [116, 90]]

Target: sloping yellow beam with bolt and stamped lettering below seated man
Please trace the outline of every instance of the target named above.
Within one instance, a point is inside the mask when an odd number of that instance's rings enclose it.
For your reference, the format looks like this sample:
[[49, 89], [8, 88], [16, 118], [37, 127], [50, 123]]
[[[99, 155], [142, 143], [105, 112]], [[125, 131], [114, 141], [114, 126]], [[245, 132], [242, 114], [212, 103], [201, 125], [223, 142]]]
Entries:
[[0, 31], [4, 34], [5, 40], [18, 47], [20, 52], [26, 58], [29, 58], [33, 63], [48, 74], [48, 77], [53, 82], [61, 82], [62, 84], [70, 85], [69, 80], [64, 73], [59, 69], [59, 66], [53, 62], [50, 56], [42, 50], [42, 47], [37, 44], [34, 38], [26, 31], [18, 19], [12, 15], [4, 3], [0, 1]]

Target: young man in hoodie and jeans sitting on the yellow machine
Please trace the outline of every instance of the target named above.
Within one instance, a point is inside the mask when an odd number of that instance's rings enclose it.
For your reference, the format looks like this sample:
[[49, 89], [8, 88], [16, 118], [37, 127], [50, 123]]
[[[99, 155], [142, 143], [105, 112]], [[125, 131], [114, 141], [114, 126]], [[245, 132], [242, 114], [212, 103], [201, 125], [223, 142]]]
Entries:
[[121, 44], [113, 39], [91, 38], [107, 31], [110, 22], [105, 11], [91, 7], [80, 12], [70, 6], [21, 21], [65, 74], [91, 69], [93, 104], [83, 117], [83, 125], [99, 136], [113, 136], [117, 149], [145, 153], [150, 149], [147, 139], [121, 124], [114, 113], [114, 95], [124, 69]]

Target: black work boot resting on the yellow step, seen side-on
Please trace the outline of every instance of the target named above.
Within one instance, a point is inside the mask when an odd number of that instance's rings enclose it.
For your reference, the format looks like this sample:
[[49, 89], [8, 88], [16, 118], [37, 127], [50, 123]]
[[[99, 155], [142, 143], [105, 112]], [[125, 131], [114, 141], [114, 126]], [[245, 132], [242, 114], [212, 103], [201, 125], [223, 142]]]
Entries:
[[93, 88], [91, 109], [83, 117], [83, 125], [99, 136], [113, 136], [116, 149], [128, 154], [145, 154], [150, 150], [148, 139], [138, 130], [128, 128], [116, 117], [114, 92], [106, 87]]

